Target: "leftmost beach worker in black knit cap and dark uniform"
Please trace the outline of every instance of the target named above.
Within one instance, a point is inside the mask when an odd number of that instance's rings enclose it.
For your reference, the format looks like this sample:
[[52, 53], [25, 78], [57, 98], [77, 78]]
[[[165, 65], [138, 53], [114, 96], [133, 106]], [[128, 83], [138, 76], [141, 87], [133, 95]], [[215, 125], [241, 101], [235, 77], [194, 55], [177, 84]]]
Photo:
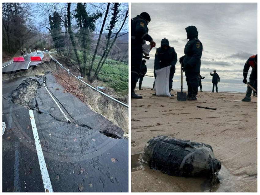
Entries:
[[148, 35], [147, 25], [151, 21], [150, 15], [146, 12], [141, 13], [132, 19], [131, 22], [131, 98], [143, 98], [135, 94], [136, 83], [139, 78], [143, 49], [143, 40], [149, 41], [151, 47], [156, 44], [153, 38]]

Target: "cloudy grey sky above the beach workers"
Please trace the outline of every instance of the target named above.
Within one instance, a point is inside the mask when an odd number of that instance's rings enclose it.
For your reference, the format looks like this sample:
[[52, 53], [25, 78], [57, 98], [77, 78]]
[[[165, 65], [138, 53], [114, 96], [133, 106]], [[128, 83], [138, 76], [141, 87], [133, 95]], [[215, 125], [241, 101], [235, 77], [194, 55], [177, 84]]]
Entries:
[[[210, 72], [220, 76], [219, 90], [246, 90], [243, 66], [257, 54], [257, 3], [132, 3], [131, 17], [142, 12], [150, 14], [149, 35], [160, 47], [169, 39], [178, 60], [184, 55], [188, 41], [185, 28], [196, 26], [203, 44], [201, 58], [202, 89], [212, 89]], [[153, 75], [155, 49], [147, 60], [147, 75]], [[249, 81], [249, 75], [247, 76]], [[184, 77], [185, 78], [185, 77]], [[152, 86], [153, 79], [145, 77], [143, 86]], [[180, 63], [176, 63], [173, 88], [180, 88]], [[184, 87], [187, 84], [184, 82]]]

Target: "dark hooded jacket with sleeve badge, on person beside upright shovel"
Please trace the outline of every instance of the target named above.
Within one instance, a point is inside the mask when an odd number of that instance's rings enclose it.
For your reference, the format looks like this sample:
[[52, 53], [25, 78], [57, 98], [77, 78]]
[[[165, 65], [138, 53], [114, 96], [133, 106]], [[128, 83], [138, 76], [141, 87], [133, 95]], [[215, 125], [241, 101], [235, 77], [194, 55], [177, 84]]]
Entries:
[[203, 46], [198, 39], [199, 33], [195, 26], [188, 26], [185, 30], [189, 41], [184, 48], [185, 56], [180, 57], [180, 63], [183, 62], [183, 71], [200, 72], [200, 58]]

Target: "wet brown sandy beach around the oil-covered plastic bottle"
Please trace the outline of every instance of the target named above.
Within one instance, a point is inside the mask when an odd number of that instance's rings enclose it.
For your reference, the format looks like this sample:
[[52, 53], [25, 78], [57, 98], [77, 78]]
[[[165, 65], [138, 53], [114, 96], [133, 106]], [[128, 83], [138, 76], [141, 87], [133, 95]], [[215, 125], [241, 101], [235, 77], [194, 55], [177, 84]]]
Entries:
[[[157, 97], [150, 88], [143, 89], [136, 90], [143, 99], [131, 101], [132, 192], [257, 192], [257, 97], [242, 102], [245, 93], [198, 92], [197, 101], [177, 101], [177, 91], [171, 92], [174, 97]], [[203, 178], [149, 169], [142, 153], [157, 135], [211, 145], [222, 163], [222, 183], [208, 189]]]

